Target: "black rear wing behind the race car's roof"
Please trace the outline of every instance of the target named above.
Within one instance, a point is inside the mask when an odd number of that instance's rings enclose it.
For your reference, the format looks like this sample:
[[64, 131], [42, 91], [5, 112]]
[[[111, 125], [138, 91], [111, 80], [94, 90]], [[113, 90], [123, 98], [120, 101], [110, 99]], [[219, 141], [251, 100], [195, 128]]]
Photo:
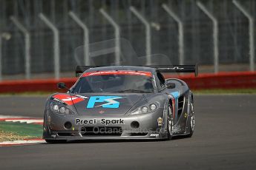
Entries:
[[[76, 77], [82, 75], [87, 69], [104, 66], [77, 66]], [[194, 75], [198, 75], [198, 65], [151, 65], [151, 66], [137, 66], [137, 67], [151, 67], [159, 70], [160, 72], [194, 72]]]

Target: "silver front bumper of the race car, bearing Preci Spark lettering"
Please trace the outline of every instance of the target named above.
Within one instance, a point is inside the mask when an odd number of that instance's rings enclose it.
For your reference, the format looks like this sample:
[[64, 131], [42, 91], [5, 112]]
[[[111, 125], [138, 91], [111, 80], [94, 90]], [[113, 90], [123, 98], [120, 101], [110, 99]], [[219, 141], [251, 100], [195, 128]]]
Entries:
[[[58, 115], [47, 110], [43, 138], [47, 140], [164, 139], [167, 137], [166, 112], [165, 109], [157, 109], [156, 112], [141, 115], [85, 116]], [[161, 124], [159, 118], [162, 118]], [[79, 123], [77, 119], [80, 120]], [[71, 123], [70, 128], [65, 127], [67, 122]]]

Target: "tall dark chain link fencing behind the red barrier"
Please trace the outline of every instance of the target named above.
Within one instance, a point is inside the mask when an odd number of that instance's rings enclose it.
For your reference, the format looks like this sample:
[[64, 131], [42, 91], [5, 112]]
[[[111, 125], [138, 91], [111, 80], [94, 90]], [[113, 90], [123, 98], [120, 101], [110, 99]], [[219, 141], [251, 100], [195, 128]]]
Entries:
[[[252, 16], [250, 20], [231, 0], [201, 0], [209, 13], [217, 18], [217, 47], [219, 71], [252, 70], [250, 63], [255, 53], [256, 1], [237, 2]], [[131, 42], [138, 56], [147, 54], [149, 39], [151, 54], [161, 53], [172, 64], [180, 63], [179, 23], [163, 9], [165, 4], [183, 24], [183, 64], [200, 64], [201, 72], [214, 72], [214, 24], [194, 0], [0, 0], [0, 77], [24, 79], [26, 73], [26, 43], [24, 33], [10, 19], [16, 18], [30, 34], [29, 78], [53, 78], [56, 75], [54, 33], [39, 18], [43, 13], [59, 33], [60, 77], [73, 76], [76, 47], [84, 45], [82, 27], [70, 17], [70, 11], [88, 27], [88, 42], [115, 38], [114, 27], [99, 12], [106, 13], [118, 24], [120, 37]], [[146, 27], [134, 15], [137, 9], [150, 25]], [[251, 30], [250, 32], [250, 22]], [[250, 34], [253, 33], [253, 34]], [[251, 36], [251, 40], [250, 40]], [[253, 37], [252, 37], [253, 36]], [[253, 52], [252, 52], [253, 50]], [[102, 63], [108, 63], [104, 58]], [[55, 76], [56, 77], [56, 76]]]

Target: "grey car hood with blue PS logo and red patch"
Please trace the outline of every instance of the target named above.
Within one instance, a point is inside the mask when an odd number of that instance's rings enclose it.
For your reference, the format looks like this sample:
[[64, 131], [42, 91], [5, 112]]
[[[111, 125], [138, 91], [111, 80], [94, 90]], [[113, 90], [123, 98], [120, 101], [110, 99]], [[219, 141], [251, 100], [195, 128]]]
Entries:
[[68, 105], [73, 105], [78, 115], [125, 115], [146, 94], [138, 93], [91, 93], [68, 95], [58, 94], [58, 98]]

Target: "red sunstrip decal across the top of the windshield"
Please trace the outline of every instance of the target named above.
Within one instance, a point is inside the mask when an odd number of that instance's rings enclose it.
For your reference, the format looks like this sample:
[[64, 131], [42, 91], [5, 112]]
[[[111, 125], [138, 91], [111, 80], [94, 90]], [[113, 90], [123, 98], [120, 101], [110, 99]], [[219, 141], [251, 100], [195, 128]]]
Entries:
[[87, 77], [91, 75], [145, 75], [148, 77], [152, 77], [151, 72], [143, 72], [143, 71], [101, 71], [101, 72], [85, 72], [82, 77]]

